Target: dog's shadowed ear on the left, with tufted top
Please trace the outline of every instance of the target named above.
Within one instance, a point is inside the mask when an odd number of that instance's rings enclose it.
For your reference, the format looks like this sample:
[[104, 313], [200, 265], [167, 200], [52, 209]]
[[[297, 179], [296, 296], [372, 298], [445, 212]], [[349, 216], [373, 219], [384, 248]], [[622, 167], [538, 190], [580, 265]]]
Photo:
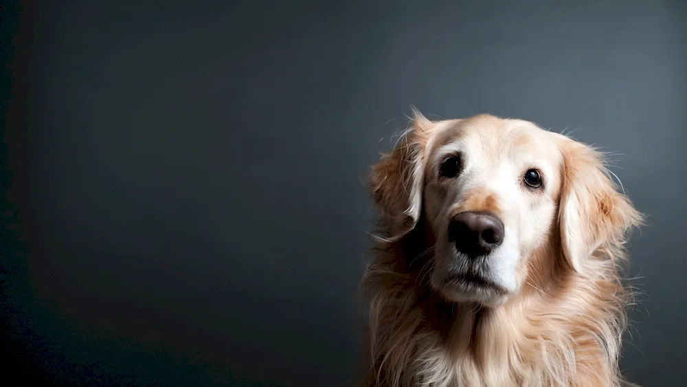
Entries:
[[370, 186], [382, 227], [390, 239], [415, 228], [423, 206], [426, 150], [432, 122], [413, 110], [412, 124], [398, 144], [372, 166]]

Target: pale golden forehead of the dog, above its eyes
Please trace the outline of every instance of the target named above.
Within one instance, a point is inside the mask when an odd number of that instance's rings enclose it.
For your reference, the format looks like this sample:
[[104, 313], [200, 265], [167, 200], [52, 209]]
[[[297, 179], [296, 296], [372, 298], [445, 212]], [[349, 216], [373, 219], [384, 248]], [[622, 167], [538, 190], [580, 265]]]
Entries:
[[525, 120], [476, 115], [462, 120], [448, 120], [437, 124], [435, 149], [464, 143], [480, 148], [488, 157], [530, 157], [556, 162], [560, 153], [554, 134]]

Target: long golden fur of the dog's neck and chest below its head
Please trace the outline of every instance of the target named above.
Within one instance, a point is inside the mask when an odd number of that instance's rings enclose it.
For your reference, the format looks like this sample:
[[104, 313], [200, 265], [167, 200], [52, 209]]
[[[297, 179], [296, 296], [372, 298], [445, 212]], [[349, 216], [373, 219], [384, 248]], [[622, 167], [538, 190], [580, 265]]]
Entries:
[[375, 360], [378, 377], [385, 375], [386, 384], [619, 383], [616, 360], [622, 305], [601, 289], [614, 286], [603, 275], [582, 280], [572, 278], [575, 274], [569, 270], [551, 272], [545, 276], [556, 281], [555, 286], [527, 285], [506, 304], [483, 307], [449, 302], [423, 283], [423, 261], [431, 254], [406, 267], [390, 266], [396, 265], [392, 256], [397, 254], [418, 256], [408, 248], [419, 246], [392, 247], [387, 265], [382, 261], [382, 270], [368, 274], [379, 284], [379, 303], [372, 309], [372, 329], [379, 338], [373, 356], [379, 358]]

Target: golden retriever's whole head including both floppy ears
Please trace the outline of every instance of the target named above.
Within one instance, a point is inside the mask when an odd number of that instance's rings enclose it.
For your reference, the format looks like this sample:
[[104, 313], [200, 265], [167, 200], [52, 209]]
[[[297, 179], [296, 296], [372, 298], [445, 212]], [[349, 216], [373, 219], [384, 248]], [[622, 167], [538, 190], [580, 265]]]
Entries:
[[600, 153], [491, 115], [430, 122], [416, 112], [374, 166], [372, 191], [387, 238], [425, 226], [431, 287], [486, 306], [543, 285], [550, 270], [589, 274], [640, 222]]

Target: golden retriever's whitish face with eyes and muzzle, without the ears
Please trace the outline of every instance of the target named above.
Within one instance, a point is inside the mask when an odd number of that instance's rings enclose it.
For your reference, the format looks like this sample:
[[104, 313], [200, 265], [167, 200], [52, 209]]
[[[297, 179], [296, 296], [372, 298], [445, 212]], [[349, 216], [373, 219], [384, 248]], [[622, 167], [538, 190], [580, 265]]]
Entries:
[[499, 304], [554, 232], [563, 157], [530, 122], [479, 116], [435, 130], [424, 187], [436, 238], [430, 283], [451, 300]]

